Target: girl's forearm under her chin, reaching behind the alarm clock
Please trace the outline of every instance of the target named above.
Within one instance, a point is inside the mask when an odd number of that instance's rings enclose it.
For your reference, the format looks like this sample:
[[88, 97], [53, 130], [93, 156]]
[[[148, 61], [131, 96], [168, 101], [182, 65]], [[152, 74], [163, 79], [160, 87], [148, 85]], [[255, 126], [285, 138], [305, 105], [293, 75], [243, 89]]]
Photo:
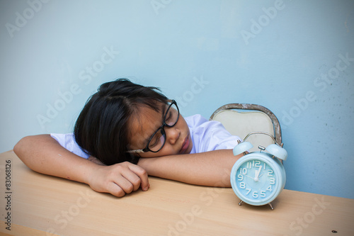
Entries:
[[138, 165], [152, 176], [202, 186], [229, 187], [230, 173], [237, 159], [232, 150], [215, 150], [196, 154], [140, 158]]

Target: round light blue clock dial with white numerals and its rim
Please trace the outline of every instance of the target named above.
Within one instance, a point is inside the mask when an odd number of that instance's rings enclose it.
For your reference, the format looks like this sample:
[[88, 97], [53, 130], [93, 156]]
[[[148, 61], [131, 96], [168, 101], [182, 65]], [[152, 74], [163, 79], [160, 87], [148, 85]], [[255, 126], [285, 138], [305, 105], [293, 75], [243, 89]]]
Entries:
[[239, 198], [261, 206], [273, 201], [285, 184], [285, 172], [278, 159], [265, 153], [251, 153], [239, 159], [232, 169], [232, 189]]

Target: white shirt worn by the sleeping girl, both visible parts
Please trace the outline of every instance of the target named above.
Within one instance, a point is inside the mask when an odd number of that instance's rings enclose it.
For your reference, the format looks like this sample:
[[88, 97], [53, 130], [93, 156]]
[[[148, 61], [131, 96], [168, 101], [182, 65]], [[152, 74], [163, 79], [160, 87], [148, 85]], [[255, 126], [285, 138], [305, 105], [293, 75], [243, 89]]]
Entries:
[[[222, 123], [218, 121], [209, 121], [200, 115], [188, 116], [185, 118], [185, 121], [187, 122], [193, 142], [193, 148], [190, 153], [233, 149], [237, 145], [237, 140], [241, 140], [238, 136], [231, 135], [225, 130]], [[50, 135], [70, 152], [86, 159], [89, 158], [89, 154], [86, 154], [77, 145], [73, 133], [52, 133]]]

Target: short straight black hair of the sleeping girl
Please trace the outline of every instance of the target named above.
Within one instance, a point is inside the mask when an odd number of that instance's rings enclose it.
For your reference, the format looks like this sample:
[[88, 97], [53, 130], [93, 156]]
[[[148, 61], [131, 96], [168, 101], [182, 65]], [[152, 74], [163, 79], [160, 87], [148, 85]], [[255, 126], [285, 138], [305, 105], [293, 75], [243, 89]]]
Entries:
[[139, 157], [127, 153], [131, 116], [138, 106], [159, 111], [167, 98], [153, 86], [142, 86], [129, 79], [117, 79], [102, 84], [82, 109], [76, 120], [74, 135], [77, 144], [103, 164], [119, 162], [137, 164]]

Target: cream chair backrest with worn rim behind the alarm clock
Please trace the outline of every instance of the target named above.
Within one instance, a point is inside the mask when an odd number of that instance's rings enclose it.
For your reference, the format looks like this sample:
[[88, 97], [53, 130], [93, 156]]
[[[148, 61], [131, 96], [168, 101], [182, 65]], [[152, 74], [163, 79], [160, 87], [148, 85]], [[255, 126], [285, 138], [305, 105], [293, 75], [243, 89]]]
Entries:
[[[232, 135], [237, 135], [244, 139], [252, 132], [261, 131], [269, 133], [275, 137], [278, 145], [282, 146], [281, 130], [278, 118], [268, 108], [256, 104], [230, 103], [218, 108], [210, 120], [217, 120]], [[253, 148], [251, 152], [258, 150], [258, 145], [267, 147], [274, 143], [268, 135], [251, 135], [247, 138]]]

